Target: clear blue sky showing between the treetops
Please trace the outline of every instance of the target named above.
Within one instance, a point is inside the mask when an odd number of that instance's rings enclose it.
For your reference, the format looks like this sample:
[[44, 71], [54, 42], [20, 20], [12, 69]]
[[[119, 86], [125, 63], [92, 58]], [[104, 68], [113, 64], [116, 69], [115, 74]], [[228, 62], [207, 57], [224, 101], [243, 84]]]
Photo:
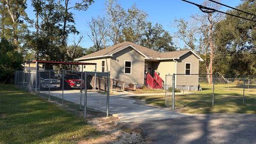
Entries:
[[[81, 0], [71, 0], [71, 5], [76, 1]], [[106, 15], [106, 3], [107, 0], [94, 0], [94, 3], [89, 6], [87, 11], [74, 11], [75, 22], [77, 30], [84, 35], [84, 39], [81, 42], [82, 47], [90, 47], [93, 45], [87, 33], [89, 28], [87, 23], [92, 17], [97, 17], [98, 15]], [[202, 4], [204, 0], [188, 0], [197, 4]], [[181, 0], [117, 0], [117, 3], [127, 10], [133, 4], [136, 4], [138, 9], [143, 10], [148, 13], [148, 21], [154, 23], [160, 23], [165, 30], [170, 31], [171, 34], [176, 30], [172, 25], [174, 19], [190, 19], [191, 14], [196, 14], [201, 12], [195, 5], [188, 4]], [[229, 6], [237, 6], [241, 3], [240, 0], [222, 0], [221, 3]], [[227, 7], [222, 7], [222, 11], [228, 10]], [[28, 1], [28, 9], [26, 10], [29, 18], [35, 19], [35, 13], [33, 12], [33, 7], [31, 2]], [[79, 36], [69, 35], [68, 43], [72, 44], [73, 39]]]

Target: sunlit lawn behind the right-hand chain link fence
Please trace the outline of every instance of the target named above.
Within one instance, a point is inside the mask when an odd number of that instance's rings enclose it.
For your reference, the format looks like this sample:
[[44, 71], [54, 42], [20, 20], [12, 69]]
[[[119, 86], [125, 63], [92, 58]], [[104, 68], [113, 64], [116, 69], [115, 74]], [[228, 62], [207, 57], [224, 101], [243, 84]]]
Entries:
[[[175, 95], [175, 108], [181, 113], [190, 114], [256, 114], [256, 89], [245, 89], [245, 104], [243, 105], [243, 86], [217, 84], [214, 91], [214, 106], [212, 106], [212, 85], [201, 84], [201, 86], [203, 91]], [[146, 100], [146, 103], [151, 105], [166, 107], [165, 95], [146, 95], [134, 98]], [[168, 97], [167, 101], [171, 107], [172, 97]]]

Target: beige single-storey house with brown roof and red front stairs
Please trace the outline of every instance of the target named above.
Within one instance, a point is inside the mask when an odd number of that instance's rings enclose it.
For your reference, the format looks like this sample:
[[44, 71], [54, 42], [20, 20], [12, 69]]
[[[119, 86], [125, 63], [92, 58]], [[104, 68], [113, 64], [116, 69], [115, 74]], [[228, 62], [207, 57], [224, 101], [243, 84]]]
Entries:
[[175, 84], [180, 89], [197, 90], [199, 61], [203, 61], [191, 50], [157, 52], [147, 47], [123, 42], [81, 58], [79, 62], [93, 62], [96, 66], [83, 66], [83, 71], [110, 71], [110, 78], [126, 84], [148, 85], [161, 89], [164, 84], [172, 85], [172, 79], [165, 81], [165, 75], [177, 75]]

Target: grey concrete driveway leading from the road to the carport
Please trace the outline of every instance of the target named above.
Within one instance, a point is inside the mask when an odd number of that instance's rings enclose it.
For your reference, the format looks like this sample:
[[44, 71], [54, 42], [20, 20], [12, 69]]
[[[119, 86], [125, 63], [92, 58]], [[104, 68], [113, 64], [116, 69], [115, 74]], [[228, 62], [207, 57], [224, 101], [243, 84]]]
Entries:
[[[48, 92], [42, 91], [42, 93], [47, 94]], [[65, 90], [64, 93], [65, 100], [79, 103], [79, 90]], [[62, 91], [51, 91], [50, 95], [62, 98]], [[140, 122], [189, 116], [170, 110], [137, 105], [134, 103], [135, 100], [125, 98], [127, 95], [130, 95], [130, 93], [110, 95], [109, 112], [113, 114], [113, 116], [118, 117], [120, 119], [119, 122]], [[87, 93], [88, 107], [106, 111], [106, 102], [106, 94], [100, 94], [93, 91]], [[82, 99], [82, 105], [84, 105], [84, 99]]]

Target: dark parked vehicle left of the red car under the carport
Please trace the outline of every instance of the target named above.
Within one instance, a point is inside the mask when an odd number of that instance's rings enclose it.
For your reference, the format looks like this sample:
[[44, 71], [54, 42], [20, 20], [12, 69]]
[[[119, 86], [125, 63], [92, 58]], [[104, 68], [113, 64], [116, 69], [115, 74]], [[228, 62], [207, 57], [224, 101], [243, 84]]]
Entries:
[[49, 78], [49, 71], [41, 71], [40, 72], [40, 87], [41, 88], [59, 88], [60, 87], [60, 78], [56, 76], [56, 74], [51, 71]]

